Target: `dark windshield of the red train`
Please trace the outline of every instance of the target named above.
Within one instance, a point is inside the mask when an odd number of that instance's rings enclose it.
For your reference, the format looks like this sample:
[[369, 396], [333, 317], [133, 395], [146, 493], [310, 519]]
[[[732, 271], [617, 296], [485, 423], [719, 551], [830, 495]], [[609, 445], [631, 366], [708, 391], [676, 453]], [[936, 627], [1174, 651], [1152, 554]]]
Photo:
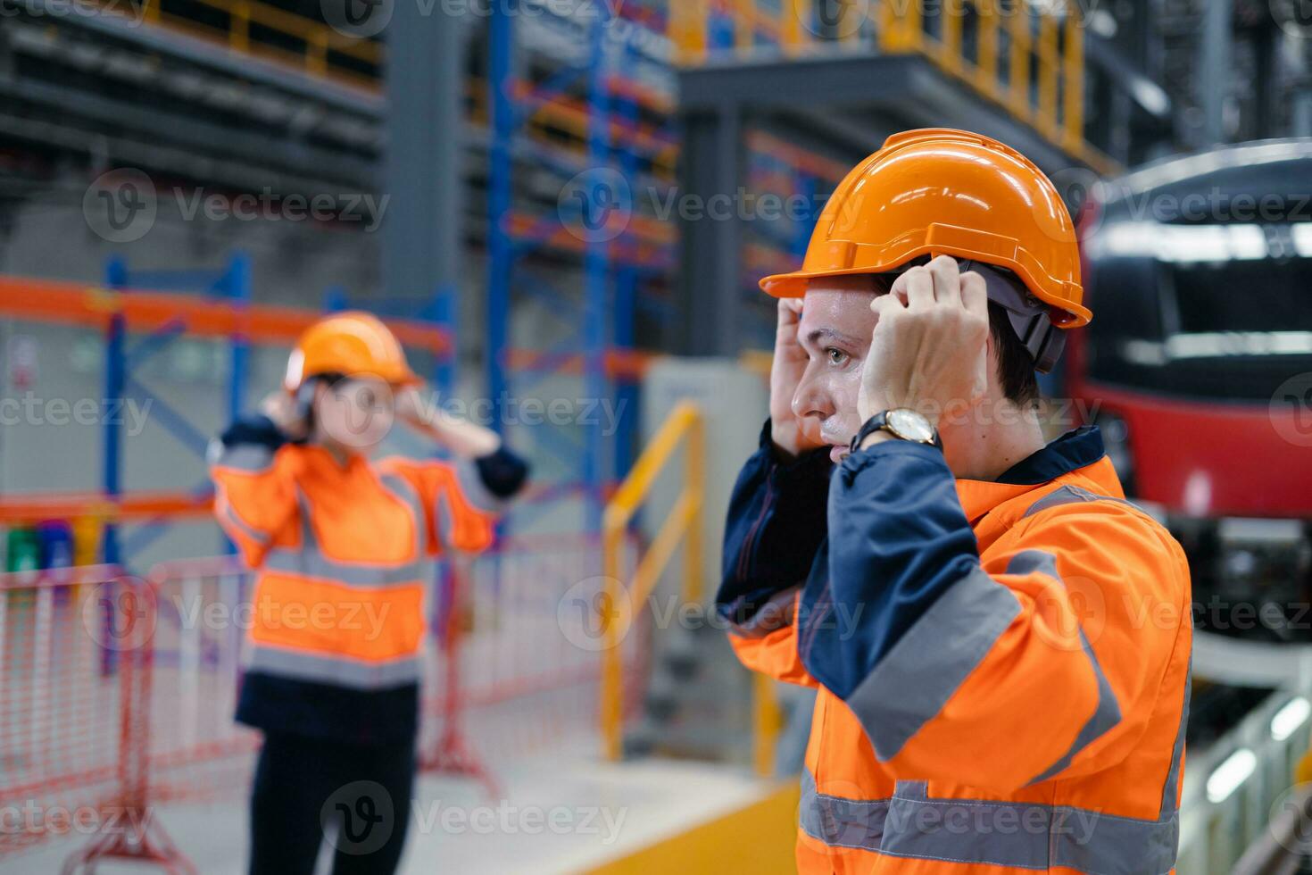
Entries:
[[1266, 401], [1291, 374], [1312, 370], [1312, 257], [1140, 253], [1099, 262], [1092, 281], [1089, 369], [1097, 380]]

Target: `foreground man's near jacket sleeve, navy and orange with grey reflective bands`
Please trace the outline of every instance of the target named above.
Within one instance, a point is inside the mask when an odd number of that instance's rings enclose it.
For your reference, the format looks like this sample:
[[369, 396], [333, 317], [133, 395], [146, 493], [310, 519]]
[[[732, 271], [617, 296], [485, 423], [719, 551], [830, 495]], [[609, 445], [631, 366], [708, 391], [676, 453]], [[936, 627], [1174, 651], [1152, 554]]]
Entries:
[[829, 533], [802, 660], [899, 779], [1090, 774], [1183, 697], [1187, 564], [1119, 497], [1038, 501], [981, 565], [942, 454], [886, 441], [841, 466]]

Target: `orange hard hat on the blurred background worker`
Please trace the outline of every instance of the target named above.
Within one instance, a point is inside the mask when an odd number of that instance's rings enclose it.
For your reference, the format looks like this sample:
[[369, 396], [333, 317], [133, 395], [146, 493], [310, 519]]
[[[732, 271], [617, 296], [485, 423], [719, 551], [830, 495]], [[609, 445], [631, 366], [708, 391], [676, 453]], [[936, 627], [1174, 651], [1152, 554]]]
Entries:
[[394, 386], [420, 382], [387, 325], [361, 311], [335, 314], [307, 328], [291, 350], [282, 384], [294, 392], [319, 374], [369, 374]]

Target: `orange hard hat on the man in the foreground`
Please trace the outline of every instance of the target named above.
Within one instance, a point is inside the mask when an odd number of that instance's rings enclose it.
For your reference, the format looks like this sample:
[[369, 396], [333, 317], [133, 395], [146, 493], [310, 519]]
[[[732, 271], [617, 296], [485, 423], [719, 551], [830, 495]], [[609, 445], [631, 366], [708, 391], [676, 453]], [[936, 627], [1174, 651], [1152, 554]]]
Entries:
[[1048, 177], [992, 138], [946, 127], [884, 140], [834, 189], [802, 270], [766, 277], [761, 289], [800, 298], [813, 277], [886, 273], [939, 254], [1013, 272], [1052, 308], [1054, 325], [1093, 316], [1081, 304], [1075, 224]]

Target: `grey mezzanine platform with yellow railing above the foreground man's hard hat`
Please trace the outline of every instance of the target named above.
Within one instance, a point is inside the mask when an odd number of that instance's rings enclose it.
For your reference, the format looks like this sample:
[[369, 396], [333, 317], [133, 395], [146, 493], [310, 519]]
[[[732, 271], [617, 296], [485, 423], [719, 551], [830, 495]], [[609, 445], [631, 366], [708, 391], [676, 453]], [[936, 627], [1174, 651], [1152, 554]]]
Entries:
[[[960, 127], [1009, 143], [1050, 174], [1076, 168], [1073, 178], [1089, 180], [1115, 172], [1132, 153], [1132, 131], [1152, 130], [1131, 125], [1131, 113], [1169, 117], [1164, 92], [1088, 34], [1075, 7], [1012, 4], [1000, 14], [996, 4], [971, 0], [962, 14], [932, 17], [916, 4], [899, 12], [887, 3], [870, 5], [870, 20], [838, 22], [840, 35], [803, 41], [803, 28], [811, 34], [824, 28], [819, 8], [795, 3], [774, 29], [783, 34], [779, 45], [739, 34], [733, 46], [707, 49], [714, 20], [684, 31], [684, 197], [708, 203], [723, 193], [757, 194], [761, 178], [745, 143], [761, 134], [851, 167], [896, 131]], [[703, 30], [710, 35], [699, 35]], [[792, 188], [820, 203], [833, 182], [811, 174]], [[770, 237], [782, 226], [764, 228], [770, 223], [757, 218], [682, 222], [684, 310], [698, 314], [685, 325], [686, 352], [735, 354], [744, 345], [745, 231], [750, 226]], [[798, 244], [796, 256], [808, 234], [810, 227], [782, 231]]]

